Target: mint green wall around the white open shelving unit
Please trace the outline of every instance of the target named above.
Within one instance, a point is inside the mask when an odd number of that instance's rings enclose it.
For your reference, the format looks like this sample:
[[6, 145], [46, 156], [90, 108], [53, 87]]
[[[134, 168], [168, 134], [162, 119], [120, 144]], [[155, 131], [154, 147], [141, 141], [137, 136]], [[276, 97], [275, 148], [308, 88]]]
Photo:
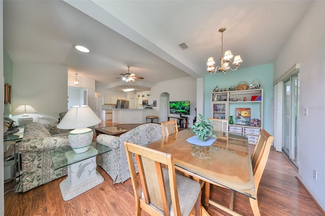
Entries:
[[[233, 66], [233, 65], [232, 65]], [[217, 73], [204, 77], [205, 85], [205, 108], [204, 116], [211, 117], [211, 92], [215, 86], [228, 89], [231, 86], [237, 86], [239, 82], [244, 81], [249, 86], [252, 82], [257, 82], [263, 89], [263, 128], [272, 133], [272, 110], [273, 110], [273, 63], [263, 64], [254, 67], [228, 71], [226, 75]]]

